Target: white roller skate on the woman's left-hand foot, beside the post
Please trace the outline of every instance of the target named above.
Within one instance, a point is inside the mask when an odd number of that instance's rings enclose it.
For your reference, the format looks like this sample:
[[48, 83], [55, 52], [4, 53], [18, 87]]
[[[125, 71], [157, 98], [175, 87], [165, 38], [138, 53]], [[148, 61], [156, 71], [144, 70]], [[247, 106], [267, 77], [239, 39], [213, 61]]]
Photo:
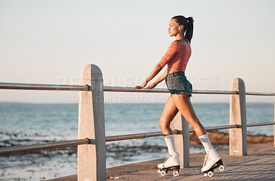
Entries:
[[179, 176], [179, 153], [172, 152], [170, 155], [167, 155], [163, 163], [157, 164], [157, 168], [159, 169], [157, 172], [162, 176], [167, 175], [168, 170], [173, 171], [174, 176]]

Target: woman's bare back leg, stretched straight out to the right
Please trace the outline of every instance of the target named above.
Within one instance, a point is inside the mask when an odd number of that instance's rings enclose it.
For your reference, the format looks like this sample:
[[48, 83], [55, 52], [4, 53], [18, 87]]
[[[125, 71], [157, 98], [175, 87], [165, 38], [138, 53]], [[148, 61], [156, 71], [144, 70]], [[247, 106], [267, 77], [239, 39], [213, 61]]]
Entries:
[[192, 107], [192, 103], [190, 102], [189, 96], [187, 94], [174, 94], [171, 97], [175, 107], [177, 107], [192, 129], [194, 129], [197, 136], [199, 137], [206, 134], [206, 129], [204, 129], [203, 125], [199, 122], [199, 119], [197, 118], [197, 115]]

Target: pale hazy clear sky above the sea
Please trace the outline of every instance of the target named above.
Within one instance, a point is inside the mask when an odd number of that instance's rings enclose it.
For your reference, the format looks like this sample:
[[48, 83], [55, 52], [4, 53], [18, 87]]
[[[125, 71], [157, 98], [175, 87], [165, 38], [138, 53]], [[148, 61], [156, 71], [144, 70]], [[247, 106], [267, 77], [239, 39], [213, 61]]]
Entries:
[[[170, 19], [184, 15], [195, 21], [186, 68], [193, 89], [230, 90], [239, 77], [248, 92], [275, 92], [274, 9], [272, 0], [0, 0], [0, 82], [78, 85], [83, 67], [95, 64], [104, 86], [133, 87], [175, 40], [168, 36]], [[165, 103], [167, 98], [104, 92], [107, 103]], [[229, 99], [191, 98], [193, 103]], [[272, 103], [274, 97], [247, 96], [247, 101]], [[1, 102], [78, 103], [78, 92], [0, 89]]]

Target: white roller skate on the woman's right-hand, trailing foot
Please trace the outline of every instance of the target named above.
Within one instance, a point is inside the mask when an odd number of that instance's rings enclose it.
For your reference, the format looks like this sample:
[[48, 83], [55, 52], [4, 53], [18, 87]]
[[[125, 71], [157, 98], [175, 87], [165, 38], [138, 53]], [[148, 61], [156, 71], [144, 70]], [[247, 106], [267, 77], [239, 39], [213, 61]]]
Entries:
[[206, 150], [206, 156], [204, 158], [201, 172], [204, 173], [205, 177], [212, 177], [214, 175], [214, 169], [218, 167], [219, 171], [224, 171], [225, 169], [225, 165], [223, 165], [223, 160], [221, 160], [221, 156], [219, 156], [215, 149]]

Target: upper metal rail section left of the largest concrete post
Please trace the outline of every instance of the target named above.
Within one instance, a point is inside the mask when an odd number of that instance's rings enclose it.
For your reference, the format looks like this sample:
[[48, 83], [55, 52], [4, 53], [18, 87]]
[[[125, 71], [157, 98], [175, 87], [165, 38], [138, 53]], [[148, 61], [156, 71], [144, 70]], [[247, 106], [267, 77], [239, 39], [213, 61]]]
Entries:
[[0, 83], [0, 89], [87, 91], [89, 90], [89, 86], [88, 85], [29, 84], [29, 83]]

